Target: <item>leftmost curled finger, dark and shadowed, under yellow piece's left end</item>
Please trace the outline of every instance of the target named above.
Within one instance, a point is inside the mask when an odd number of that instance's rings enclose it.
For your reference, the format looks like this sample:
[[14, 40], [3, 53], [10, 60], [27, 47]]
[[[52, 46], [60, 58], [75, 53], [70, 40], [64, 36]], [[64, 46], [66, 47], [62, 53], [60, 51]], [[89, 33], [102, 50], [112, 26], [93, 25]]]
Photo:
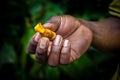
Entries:
[[37, 43], [40, 39], [41, 35], [37, 32], [32, 38], [31, 40], [29, 41], [29, 44], [28, 44], [28, 53], [35, 53], [36, 51], [36, 46], [37, 46]]

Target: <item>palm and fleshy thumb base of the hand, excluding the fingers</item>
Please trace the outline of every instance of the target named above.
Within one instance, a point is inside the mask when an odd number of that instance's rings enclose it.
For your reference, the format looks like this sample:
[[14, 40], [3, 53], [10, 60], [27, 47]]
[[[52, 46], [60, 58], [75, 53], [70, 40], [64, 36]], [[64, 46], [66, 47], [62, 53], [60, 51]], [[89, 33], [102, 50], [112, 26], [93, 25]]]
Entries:
[[91, 43], [91, 32], [71, 16], [65, 16], [61, 20], [56, 32], [71, 43], [70, 62], [79, 58]]

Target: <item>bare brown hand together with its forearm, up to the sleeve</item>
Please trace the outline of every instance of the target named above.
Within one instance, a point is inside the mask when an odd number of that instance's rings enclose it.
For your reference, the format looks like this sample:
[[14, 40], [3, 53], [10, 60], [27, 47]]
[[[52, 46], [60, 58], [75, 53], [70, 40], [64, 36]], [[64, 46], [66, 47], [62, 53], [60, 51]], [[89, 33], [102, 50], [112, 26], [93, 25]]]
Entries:
[[52, 17], [44, 27], [55, 31], [56, 38], [50, 41], [37, 32], [30, 39], [28, 52], [35, 53], [38, 62], [50, 66], [70, 64], [91, 45], [108, 53], [118, 53], [120, 49], [120, 20], [116, 18], [91, 22], [62, 15]]

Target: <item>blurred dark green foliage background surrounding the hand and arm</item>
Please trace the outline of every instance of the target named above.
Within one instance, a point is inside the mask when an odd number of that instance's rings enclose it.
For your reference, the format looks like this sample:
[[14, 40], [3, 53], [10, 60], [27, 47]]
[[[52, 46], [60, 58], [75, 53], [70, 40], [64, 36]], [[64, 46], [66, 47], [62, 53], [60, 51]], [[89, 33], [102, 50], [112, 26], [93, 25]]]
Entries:
[[[69, 14], [85, 20], [108, 17], [112, 0], [4, 0], [0, 2], [0, 80], [117, 80], [119, 58], [92, 46], [70, 65], [41, 65], [27, 53], [34, 26]], [[117, 68], [118, 67], [118, 68]]]

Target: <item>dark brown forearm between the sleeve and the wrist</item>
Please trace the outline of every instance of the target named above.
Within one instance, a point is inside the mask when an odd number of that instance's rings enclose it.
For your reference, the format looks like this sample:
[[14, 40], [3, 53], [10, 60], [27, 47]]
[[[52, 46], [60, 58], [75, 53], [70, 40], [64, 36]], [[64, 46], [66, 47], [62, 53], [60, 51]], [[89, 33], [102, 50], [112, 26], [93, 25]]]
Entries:
[[93, 33], [92, 45], [108, 53], [120, 52], [120, 19], [109, 17], [103, 21], [80, 20]]

